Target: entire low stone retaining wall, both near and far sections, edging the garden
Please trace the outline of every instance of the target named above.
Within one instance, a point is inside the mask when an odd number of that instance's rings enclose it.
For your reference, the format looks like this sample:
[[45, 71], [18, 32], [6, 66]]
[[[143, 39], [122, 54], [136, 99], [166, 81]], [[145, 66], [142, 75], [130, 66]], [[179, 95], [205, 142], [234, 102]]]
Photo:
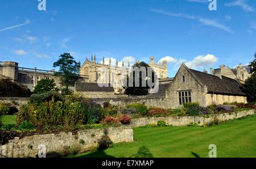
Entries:
[[[200, 124], [209, 124], [215, 119], [218, 121], [226, 121], [245, 117], [247, 115], [254, 115], [255, 110], [223, 113], [213, 117], [200, 116], [184, 116], [184, 117], [146, 117], [139, 119], [132, 119], [131, 124], [125, 127], [108, 128], [108, 129], [90, 129], [79, 131], [76, 135], [69, 133], [60, 134], [46, 134], [34, 135], [30, 137], [10, 140], [6, 145], [0, 146], [0, 157], [36, 157], [39, 152], [39, 145], [46, 145], [47, 153], [54, 151], [61, 151], [65, 147], [79, 146], [80, 149], [94, 147], [98, 145], [98, 141], [104, 136], [109, 136], [113, 143], [118, 142], [133, 142], [134, 127], [145, 126], [156, 123], [159, 120], [165, 120], [168, 124], [173, 126], [187, 126], [189, 122], [197, 122]], [[80, 141], [84, 141], [84, 145]]]

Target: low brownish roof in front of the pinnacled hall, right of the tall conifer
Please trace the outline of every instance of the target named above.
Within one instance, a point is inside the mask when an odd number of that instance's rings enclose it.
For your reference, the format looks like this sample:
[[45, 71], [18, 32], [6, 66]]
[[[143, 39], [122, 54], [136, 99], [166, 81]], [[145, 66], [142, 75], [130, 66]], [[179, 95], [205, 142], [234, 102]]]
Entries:
[[76, 82], [76, 91], [114, 91], [114, 87], [100, 87], [100, 86], [110, 86], [110, 84], [100, 84], [98, 83], [85, 83]]

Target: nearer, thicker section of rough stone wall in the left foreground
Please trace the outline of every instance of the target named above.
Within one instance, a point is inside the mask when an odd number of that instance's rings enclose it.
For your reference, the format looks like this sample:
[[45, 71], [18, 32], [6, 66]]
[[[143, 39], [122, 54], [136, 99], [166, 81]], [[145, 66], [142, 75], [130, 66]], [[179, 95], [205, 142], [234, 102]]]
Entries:
[[[20, 158], [36, 157], [39, 145], [46, 145], [47, 153], [62, 151], [67, 147], [79, 147], [81, 150], [98, 145], [98, 140], [109, 136], [113, 143], [132, 142], [133, 129], [126, 127], [108, 129], [90, 129], [79, 131], [76, 135], [69, 133], [34, 135], [30, 137], [15, 137], [6, 145], [0, 146], [0, 157]], [[80, 143], [84, 141], [84, 145]]]

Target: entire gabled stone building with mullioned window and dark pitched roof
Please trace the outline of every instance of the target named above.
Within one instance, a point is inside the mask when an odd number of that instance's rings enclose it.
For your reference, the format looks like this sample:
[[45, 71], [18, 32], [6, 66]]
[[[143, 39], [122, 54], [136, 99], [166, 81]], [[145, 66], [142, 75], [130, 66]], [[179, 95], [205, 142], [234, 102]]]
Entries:
[[204, 106], [224, 102], [247, 103], [241, 83], [236, 79], [192, 70], [185, 64], [177, 71], [166, 96], [172, 107], [190, 102], [199, 102]]

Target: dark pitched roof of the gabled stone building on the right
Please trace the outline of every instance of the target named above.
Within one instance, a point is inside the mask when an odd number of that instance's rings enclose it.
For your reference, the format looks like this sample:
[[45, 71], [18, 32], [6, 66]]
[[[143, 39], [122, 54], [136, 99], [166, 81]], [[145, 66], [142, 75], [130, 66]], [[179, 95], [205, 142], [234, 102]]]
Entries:
[[222, 76], [222, 79], [216, 75], [203, 73], [201, 71], [189, 69], [201, 83], [207, 86], [208, 93], [226, 94], [226, 95], [241, 95], [246, 94], [241, 90], [241, 84], [235, 79]]

